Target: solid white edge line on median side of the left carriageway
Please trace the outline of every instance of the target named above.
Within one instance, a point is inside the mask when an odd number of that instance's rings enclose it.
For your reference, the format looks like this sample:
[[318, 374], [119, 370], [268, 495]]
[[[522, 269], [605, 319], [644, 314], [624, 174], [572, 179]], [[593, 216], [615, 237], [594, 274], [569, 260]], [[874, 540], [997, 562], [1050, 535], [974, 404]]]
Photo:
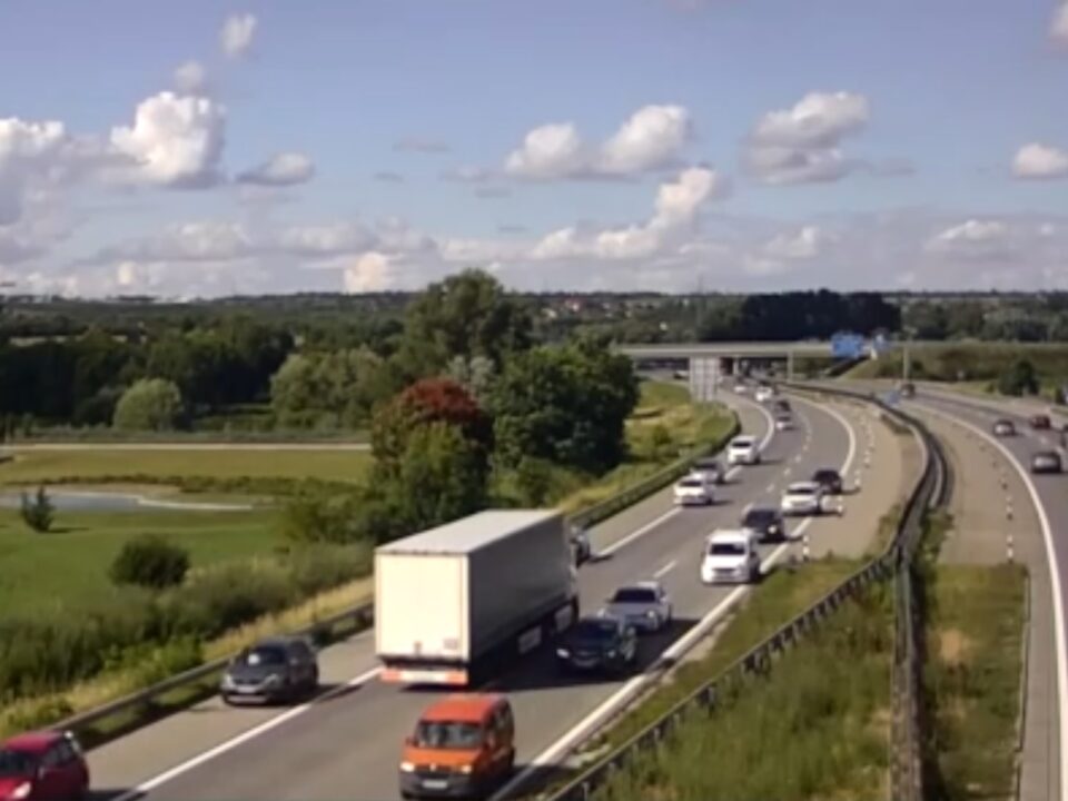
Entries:
[[[853, 431], [850, 428], [849, 424], [844, 422], [844, 418], [834, 414], [834, 417], [838, 418], [838, 423], [844, 425], [846, 431], [849, 434], [849, 449], [846, 453], [846, 461], [842, 462], [842, 468], [839, 471], [844, 474], [849, 472], [849, 466], [853, 462], [853, 457], [857, 454], [856, 441], [853, 437]], [[793, 531], [793, 537], [800, 538], [804, 531], [812, 524], [812, 521], [817, 520], [815, 517], [805, 517], [801, 523], [798, 524], [798, 527]], [[767, 573], [770, 567], [773, 567], [775, 563], [782, 557], [782, 555], [790, 550], [793, 545], [793, 542], [785, 542], [782, 545], [775, 547], [774, 551], [769, 554], [760, 564], [761, 573]], [[725, 599], [720, 601], [711, 612], [709, 612], [704, 617], [702, 617], [693, 629], [686, 632], [683, 636], [679, 637], [671, 647], [661, 654], [661, 659], [676, 659], [689, 651], [693, 644], [703, 637], [709, 630], [719, 622], [726, 612], [741, 599], [745, 593], [751, 592], [753, 585], [742, 584], [741, 586], [734, 587]], [[542, 751], [537, 756], [535, 756], [531, 762], [520, 771], [512, 781], [507, 782], [497, 792], [490, 797], [490, 801], [503, 801], [503, 799], [508, 798], [517, 788], [522, 787], [530, 777], [536, 773], [545, 765], [556, 764], [561, 758], [563, 758], [567, 752], [570, 752], [575, 745], [583, 742], [586, 738], [592, 734], [596, 728], [604, 721], [604, 719], [614, 712], [616, 708], [621, 706], [627, 699], [634, 695], [637, 690], [650, 680], [647, 673], [642, 673], [636, 675], [630, 681], [627, 681], [623, 686], [616, 690], [612, 695], [605, 699], [600, 706], [593, 710], [590, 714], [578, 721], [574, 726], [571, 728], [567, 732], [563, 734], [556, 742], [550, 745], [547, 749]]]

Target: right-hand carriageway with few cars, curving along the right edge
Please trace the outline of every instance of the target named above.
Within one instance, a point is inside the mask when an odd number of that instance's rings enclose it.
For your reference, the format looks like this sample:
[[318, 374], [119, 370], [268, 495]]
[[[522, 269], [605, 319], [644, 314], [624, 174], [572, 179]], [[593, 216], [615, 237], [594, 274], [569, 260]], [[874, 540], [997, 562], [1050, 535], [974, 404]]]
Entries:
[[[1031, 454], [1036, 451], [1059, 449], [1061, 457], [1065, 457], [1066, 454], [1064, 449], [1059, 448], [1057, 433], [1030, 429], [1027, 419], [1029, 414], [1018, 404], [1012, 406], [1009, 406], [1009, 404], [993, 405], [989, 402], [971, 400], [959, 394], [932, 390], [928, 387], [920, 388], [914, 399], [902, 405], [908, 409], [913, 404], [920, 408], [951, 417], [959, 425], [976, 434], [980, 442], [986, 442], [1000, 449], [1002, 455], [1015, 465], [1024, 486], [1028, 488], [1031, 495], [1029, 500], [1034, 503], [1038, 513], [1039, 524], [1042, 528], [1039, 534], [1045, 542], [1049, 564], [1049, 585], [1051, 587], [1049, 601], [1054, 606], [1052, 645], [1057, 680], [1055, 703], [1049, 703], [1051, 728], [1054, 729], [1048, 733], [1050, 738], [1049, 752], [1054, 755], [1049, 765], [1051, 780], [1048, 783], [1047, 777], [1035, 777], [1034, 780], [1044, 790], [1047, 787], [1059, 785], [1059, 798], [1061, 801], [1068, 801], [1068, 739], [1064, 736], [1065, 724], [1068, 723], [1068, 651], [1066, 651], [1068, 629], [1066, 629], [1065, 620], [1065, 607], [1068, 605], [1068, 595], [1066, 595], [1066, 589], [1068, 589], [1068, 542], [1064, 538], [1065, 532], [1068, 531], [1068, 481], [1066, 481], [1065, 475], [1030, 475]], [[1011, 411], [1007, 411], [1007, 408]], [[998, 418], [1011, 419], [1016, 424], [1018, 435], [1003, 438], [995, 437], [991, 434], [991, 427], [993, 421]], [[1028, 691], [1031, 692], [1034, 689], [1029, 688]], [[1025, 743], [1025, 748], [1027, 748], [1027, 743]], [[1061, 767], [1059, 771], [1058, 764]], [[1031, 778], [1024, 777], [1024, 780], [1025, 785], [1028, 785]], [[1050, 797], [1044, 791], [1039, 798], [1049, 798], [1052, 801], [1057, 795]]]

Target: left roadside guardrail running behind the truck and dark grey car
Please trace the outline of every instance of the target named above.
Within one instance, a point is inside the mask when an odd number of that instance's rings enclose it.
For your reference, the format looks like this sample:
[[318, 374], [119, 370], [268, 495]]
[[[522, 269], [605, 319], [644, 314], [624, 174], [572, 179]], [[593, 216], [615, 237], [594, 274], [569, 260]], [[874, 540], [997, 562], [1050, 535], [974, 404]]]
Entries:
[[[686, 455], [682, 456], [676, 462], [673, 462], [668, 467], [664, 467], [637, 484], [627, 487], [626, 490], [623, 490], [612, 497], [606, 498], [589, 508], [570, 515], [566, 518], [567, 522], [570, 524], [576, 524], [580, 526], [595, 525], [596, 523], [611, 517], [612, 515], [637, 503], [639, 501], [649, 497], [653, 493], [659, 492], [680, 476], [684, 475], [695, 459], [722, 451], [726, 443], [730, 442], [735, 434], [738, 434], [740, 427], [741, 426], [739, 424], [738, 416], [735, 415], [732, 426], [719, 441], [710, 442], [692, 448]], [[332, 617], [317, 621], [310, 626], [293, 633], [297, 635], [312, 636], [320, 642], [335, 641], [338, 639], [338, 633], [336, 631], [338, 627], [343, 627], [346, 632], [355, 633], [369, 627], [373, 622], [374, 604], [367, 603], [355, 609], [340, 612]], [[175, 693], [176, 691], [184, 689], [191, 689], [197, 685], [204, 685], [204, 691], [199, 693], [199, 698], [214, 694], [214, 692], [209, 692], [211, 688], [207, 686], [208, 680], [217, 678], [219, 674], [221, 674], [233, 657], [234, 655], [231, 654], [229, 656], [212, 660], [211, 662], [198, 665], [197, 668], [188, 670], [184, 673], [176, 674], [170, 679], [166, 679], [158, 684], [154, 684], [135, 693], [130, 693], [129, 695], [125, 695], [96, 709], [80, 712], [76, 715], [67, 718], [66, 720], [56, 723], [55, 728], [78, 732], [85, 736], [86, 733], [91, 734], [92, 728], [105, 720], [122, 714], [136, 714], [141, 710], [146, 712], [144, 718], [148, 720], [156, 720], [160, 715], [151, 714], [152, 708], [160, 708], [161, 705], [158, 703], [159, 700], [169, 693]], [[198, 695], [194, 694], [194, 698], [198, 698]], [[178, 706], [178, 704], [174, 706]], [[140, 718], [140, 715], [138, 716]], [[132, 728], [135, 726], [129, 726], [129, 729]], [[89, 731], [87, 732], [87, 730]], [[88, 739], [91, 742], [91, 736]]]

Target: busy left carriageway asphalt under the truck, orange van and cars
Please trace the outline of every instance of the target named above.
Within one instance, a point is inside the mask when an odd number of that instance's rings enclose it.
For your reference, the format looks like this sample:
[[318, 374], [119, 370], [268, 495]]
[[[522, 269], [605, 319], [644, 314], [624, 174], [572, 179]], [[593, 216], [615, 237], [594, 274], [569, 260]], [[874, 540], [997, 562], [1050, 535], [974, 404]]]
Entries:
[[[808, 478], [819, 467], [835, 467], [844, 475], [852, 466], [857, 438], [846, 418], [803, 399], [793, 403], [797, 428], [775, 433], [763, 408], [739, 398], [743, 431], [765, 444], [764, 463], [734, 471], [714, 506], [673, 510], [668, 488], [632, 507], [643, 507], [644, 520], [637, 517], [641, 522], [635, 521], [629, 534], [616, 528], [624, 535], [616, 534], [609, 543], [602, 532], [611, 526], [592, 532], [596, 555], [580, 570], [583, 614], [595, 612], [617, 586], [651, 577], [664, 583], [674, 603], [670, 630], [642, 637], [643, 671], [680, 639], [692, 643], [700, 634], [693, 630], [699, 621], [701, 630], [708, 630], [746, 591], [701, 584], [705, 534], [718, 526], [735, 526], [751, 503], [777, 505], [787, 484]], [[792, 524], [791, 532], [797, 534], [803, 525], [808, 523]], [[820, 523], [812, 525], [818, 531]], [[765, 546], [765, 566], [788, 548]], [[675, 652], [680, 650], [675, 645]], [[216, 699], [96, 749], [89, 754], [93, 797], [115, 801], [398, 798], [403, 739], [442, 691], [375, 681], [373, 632], [325, 649], [319, 656], [327, 686], [313, 703], [279, 712], [228, 709]], [[622, 682], [562, 679], [553, 660], [552, 649], [542, 649], [490, 688], [512, 699], [517, 777], [523, 779], [543, 771], [551, 775], [552, 765], [567, 748], [642, 683], [641, 675]], [[504, 788], [498, 797], [511, 792]]]

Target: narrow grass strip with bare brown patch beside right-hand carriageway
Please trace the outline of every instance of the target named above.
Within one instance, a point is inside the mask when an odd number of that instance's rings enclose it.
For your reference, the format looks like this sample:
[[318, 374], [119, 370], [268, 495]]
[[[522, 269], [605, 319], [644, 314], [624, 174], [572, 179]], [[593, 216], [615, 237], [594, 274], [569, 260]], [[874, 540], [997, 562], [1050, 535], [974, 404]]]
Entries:
[[946, 801], [1009, 798], [1027, 581], [1019, 565], [937, 566], [928, 586], [933, 751]]

